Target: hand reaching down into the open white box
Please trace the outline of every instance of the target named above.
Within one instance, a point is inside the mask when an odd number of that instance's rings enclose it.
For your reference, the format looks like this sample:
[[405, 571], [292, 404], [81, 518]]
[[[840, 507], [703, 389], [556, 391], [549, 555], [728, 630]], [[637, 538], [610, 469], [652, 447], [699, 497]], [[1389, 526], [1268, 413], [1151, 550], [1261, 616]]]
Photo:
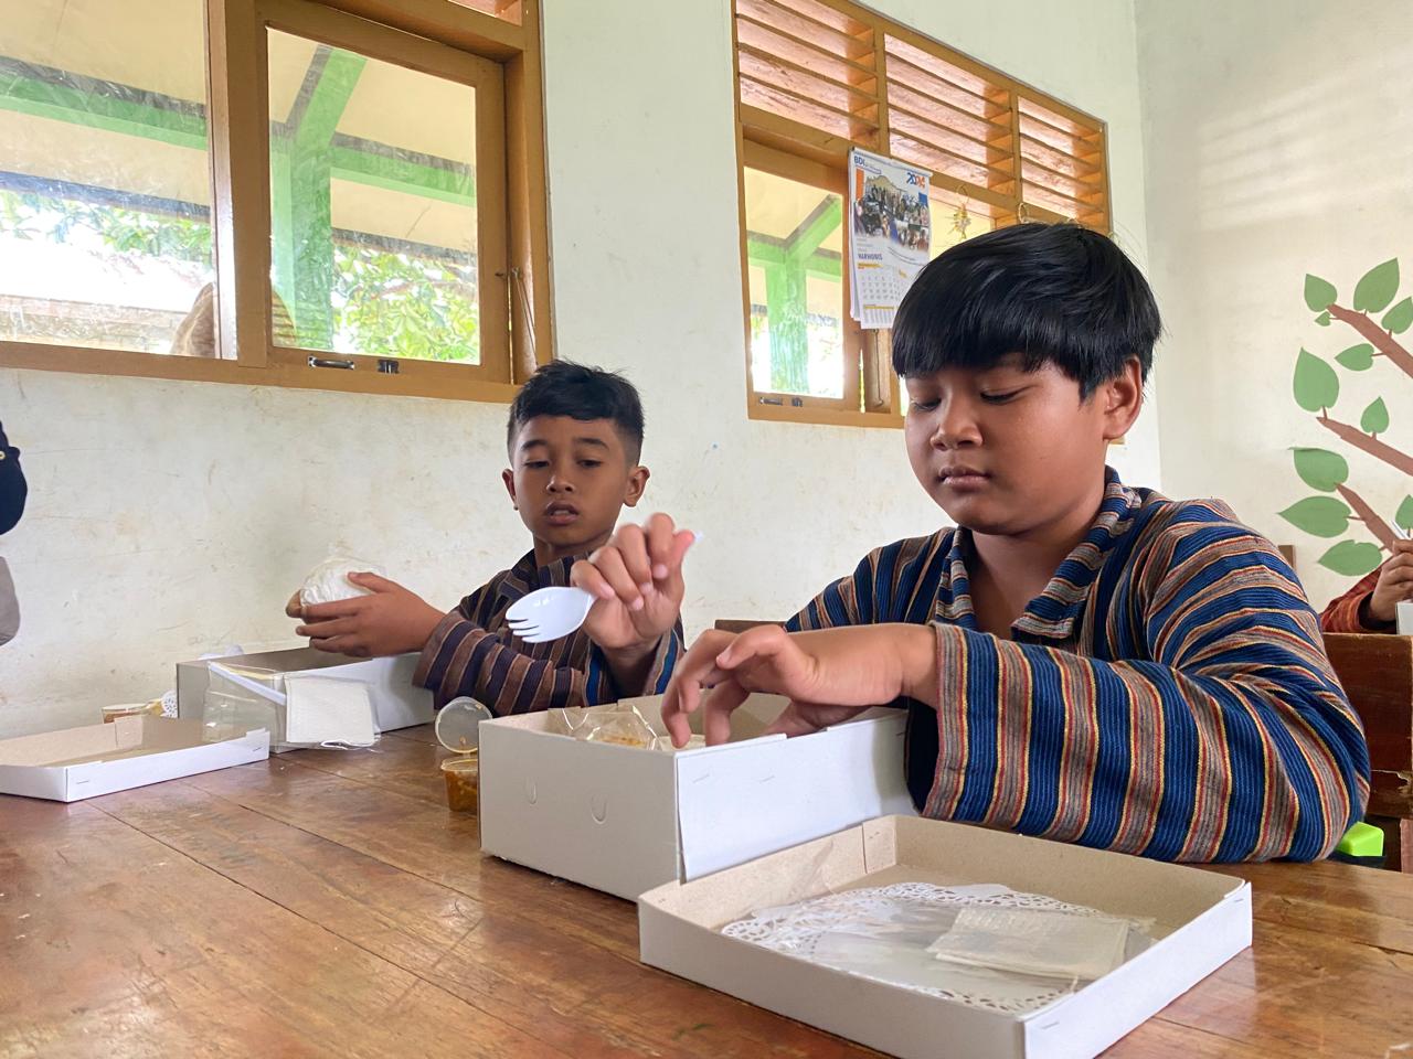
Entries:
[[[709, 689], [702, 695], [702, 689]], [[699, 707], [706, 744], [731, 738], [731, 714], [750, 692], [788, 696], [769, 731], [803, 736], [909, 695], [937, 705], [937, 634], [931, 626], [855, 626], [786, 633], [760, 626], [740, 635], [704, 633], [663, 698], [677, 747]]]

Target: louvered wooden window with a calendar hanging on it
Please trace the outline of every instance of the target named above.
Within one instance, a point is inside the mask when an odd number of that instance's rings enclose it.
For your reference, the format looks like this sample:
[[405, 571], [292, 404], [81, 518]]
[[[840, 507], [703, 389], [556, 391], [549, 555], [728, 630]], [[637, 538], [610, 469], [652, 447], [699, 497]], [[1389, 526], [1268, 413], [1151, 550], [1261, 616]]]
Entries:
[[752, 418], [893, 426], [849, 316], [852, 147], [931, 172], [931, 256], [1017, 220], [1109, 230], [1104, 124], [848, 0], [735, 0]]

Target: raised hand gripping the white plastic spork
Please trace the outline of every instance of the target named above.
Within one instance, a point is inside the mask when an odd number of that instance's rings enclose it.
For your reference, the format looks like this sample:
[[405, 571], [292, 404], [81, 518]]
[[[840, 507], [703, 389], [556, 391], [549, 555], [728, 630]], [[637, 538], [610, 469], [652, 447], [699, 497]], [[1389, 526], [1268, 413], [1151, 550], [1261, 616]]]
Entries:
[[642, 527], [620, 527], [606, 545], [574, 563], [569, 583], [598, 597], [584, 631], [615, 671], [650, 655], [677, 624], [687, 592], [682, 556], [695, 539], [691, 530], [656, 514]]

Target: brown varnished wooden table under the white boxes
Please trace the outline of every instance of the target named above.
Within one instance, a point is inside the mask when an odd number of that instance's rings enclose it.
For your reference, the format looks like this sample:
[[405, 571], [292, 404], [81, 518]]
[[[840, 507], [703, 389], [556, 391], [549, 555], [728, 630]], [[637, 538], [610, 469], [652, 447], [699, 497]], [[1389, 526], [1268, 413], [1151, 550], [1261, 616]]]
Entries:
[[[72, 806], [0, 796], [0, 1056], [873, 1055], [637, 962], [633, 905], [483, 858], [425, 729]], [[1255, 946], [1111, 1056], [1413, 1049], [1413, 881], [1228, 870]], [[944, 1046], [940, 1045], [940, 1055]]]

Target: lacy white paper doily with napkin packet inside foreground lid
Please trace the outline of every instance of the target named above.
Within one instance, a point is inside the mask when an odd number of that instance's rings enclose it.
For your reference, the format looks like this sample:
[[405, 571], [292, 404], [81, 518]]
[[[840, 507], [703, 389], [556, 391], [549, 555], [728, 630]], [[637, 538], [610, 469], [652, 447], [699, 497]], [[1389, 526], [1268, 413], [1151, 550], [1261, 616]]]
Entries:
[[759, 909], [722, 933], [968, 1007], [1027, 1014], [1147, 949], [1152, 929], [999, 884], [897, 882]]

